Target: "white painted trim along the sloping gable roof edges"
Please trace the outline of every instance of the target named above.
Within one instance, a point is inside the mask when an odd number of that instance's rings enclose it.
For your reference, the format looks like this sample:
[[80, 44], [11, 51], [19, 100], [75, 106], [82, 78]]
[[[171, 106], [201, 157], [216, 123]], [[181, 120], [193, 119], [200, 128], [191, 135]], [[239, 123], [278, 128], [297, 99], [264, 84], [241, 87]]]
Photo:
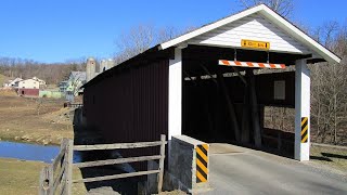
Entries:
[[165, 50], [170, 47], [175, 47], [177, 44], [180, 44], [181, 42], [184, 42], [189, 39], [192, 39], [194, 37], [197, 37], [202, 34], [205, 34], [207, 31], [210, 31], [213, 29], [216, 29], [218, 27], [221, 27], [223, 25], [227, 25], [229, 23], [232, 23], [234, 21], [237, 21], [240, 18], [246, 17], [254, 13], [259, 13], [264, 15], [266, 18], [270, 20], [272, 23], [274, 23], [277, 26], [281, 27], [284, 31], [286, 31], [288, 35], [296, 38], [298, 41], [300, 41], [304, 46], [308, 47], [312, 51], [317, 52], [321, 57], [323, 57], [325, 61], [330, 63], [339, 63], [340, 58], [335, 55], [333, 52], [318, 43], [316, 40], [310, 38], [308, 35], [303, 32], [300, 29], [298, 29], [296, 26], [287, 22], [285, 18], [280, 16], [278, 13], [266, 6], [265, 4], [260, 4], [254, 8], [250, 8], [248, 10], [245, 10], [243, 12], [240, 12], [237, 14], [231, 15], [229, 17], [226, 17], [223, 20], [217, 21], [213, 24], [206, 25], [202, 28], [198, 28], [196, 30], [193, 30], [189, 34], [182, 35], [178, 38], [171, 39], [167, 42], [164, 42], [159, 46], [159, 50]]

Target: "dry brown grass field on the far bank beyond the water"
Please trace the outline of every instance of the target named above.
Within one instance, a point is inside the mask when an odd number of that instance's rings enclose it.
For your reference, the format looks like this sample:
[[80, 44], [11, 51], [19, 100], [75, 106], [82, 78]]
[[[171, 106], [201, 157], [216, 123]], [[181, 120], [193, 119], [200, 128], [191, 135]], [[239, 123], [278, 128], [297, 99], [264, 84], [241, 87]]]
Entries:
[[73, 122], [63, 100], [0, 95], [0, 139], [39, 144], [60, 144], [73, 138]]

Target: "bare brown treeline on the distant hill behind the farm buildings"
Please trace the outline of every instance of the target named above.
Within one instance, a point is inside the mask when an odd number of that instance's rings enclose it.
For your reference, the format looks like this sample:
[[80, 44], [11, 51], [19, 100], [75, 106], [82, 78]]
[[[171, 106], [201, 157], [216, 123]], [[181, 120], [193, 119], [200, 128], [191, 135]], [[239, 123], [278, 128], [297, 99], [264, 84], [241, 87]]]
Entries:
[[[48, 84], [57, 84], [66, 80], [70, 72], [83, 72], [86, 69], [85, 60], [67, 61], [65, 63], [39, 63], [33, 60], [0, 57], [0, 74], [23, 79], [38, 77]], [[0, 83], [2, 84], [2, 83]]]

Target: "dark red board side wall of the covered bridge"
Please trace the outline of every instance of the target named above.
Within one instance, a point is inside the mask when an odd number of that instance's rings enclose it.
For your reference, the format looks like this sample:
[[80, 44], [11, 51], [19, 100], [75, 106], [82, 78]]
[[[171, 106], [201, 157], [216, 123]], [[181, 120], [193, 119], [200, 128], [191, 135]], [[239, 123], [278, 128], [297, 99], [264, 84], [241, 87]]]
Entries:
[[168, 132], [168, 61], [114, 73], [85, 89], [88, 126], [107, 142], [159, 140]]

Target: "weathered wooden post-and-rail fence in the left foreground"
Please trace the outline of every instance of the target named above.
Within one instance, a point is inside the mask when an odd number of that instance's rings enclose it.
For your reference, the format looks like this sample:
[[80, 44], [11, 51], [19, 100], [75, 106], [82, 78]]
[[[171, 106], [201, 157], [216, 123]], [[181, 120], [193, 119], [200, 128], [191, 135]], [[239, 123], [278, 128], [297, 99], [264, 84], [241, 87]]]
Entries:
[[[138, 143], [116, 143], [116, 144], [99, 144], [99, 145], [73, 145], [72, 140], [64, 139], [61, 145], [60, 154], [56, 156], [54, 161], [44, 167], [40, 176], [40, 190], [39, 194], [72, 194], [72, 184], [80, 182], [95, 182], [104, 180], [114, 180], [120, 178], [130, 178], [138, 176], [157, 174], [157, 190], [162, 192], [163, 187], [163, 176], [164, 176], [164, 159], [165, 159], [165, 144], [166, 136], [162, 134], [160, 141], [155, 142], [138, 142]], [[129, 164], [137, 161], [146, 160], [159, 160], [159, 168], [157, 170], [138, 171], [130, 173], [120, 173], [113, 176], [103, 176], [95, 178], [86, 178], [80, 180], [72, 180], [72, 169], [73, 169], [73, 152], [74, 151], [97, 151], [97, 150], [124, 150], [124, 148], [140, 148], [140, 147], [152, 147], [160, 146], [159, 155], [152, 156], [140, 156], [130, 158], [117, 158], [117, 159], [106, 159], [97, 161], [85, 161], [74, 164], [75, 167], [86, 168], [86, 167], [98, 167], [105, 165], [116, 165], [116, 164]]]

